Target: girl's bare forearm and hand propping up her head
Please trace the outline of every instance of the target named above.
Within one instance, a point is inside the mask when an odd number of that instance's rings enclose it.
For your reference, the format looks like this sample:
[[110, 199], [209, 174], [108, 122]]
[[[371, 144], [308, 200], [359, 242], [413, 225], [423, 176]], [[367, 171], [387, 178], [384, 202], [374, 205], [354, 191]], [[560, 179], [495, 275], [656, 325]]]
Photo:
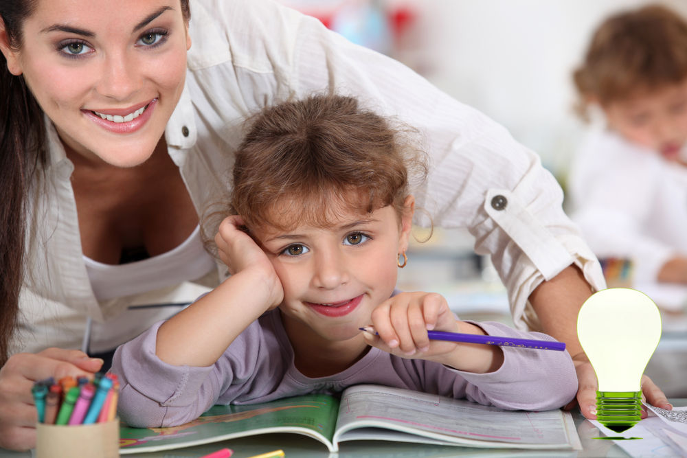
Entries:
[[155, 353], [171, 365], [210, 366], [236, 336], [282, 301], [282, 285], [240, 216], [225, 218], [215, 242], [231, 277], [185, 308], [157, 332]]

